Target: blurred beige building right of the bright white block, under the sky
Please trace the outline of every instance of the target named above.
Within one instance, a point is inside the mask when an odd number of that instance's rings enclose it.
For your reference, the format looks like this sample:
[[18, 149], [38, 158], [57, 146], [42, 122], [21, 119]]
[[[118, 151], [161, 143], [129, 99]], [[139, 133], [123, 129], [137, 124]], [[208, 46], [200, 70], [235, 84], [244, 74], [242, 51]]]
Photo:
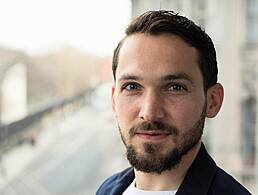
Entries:
[[72, 48], [31, 56], [28, 66], [29, 109], [76, 95], [99, 83], [99, 57]]

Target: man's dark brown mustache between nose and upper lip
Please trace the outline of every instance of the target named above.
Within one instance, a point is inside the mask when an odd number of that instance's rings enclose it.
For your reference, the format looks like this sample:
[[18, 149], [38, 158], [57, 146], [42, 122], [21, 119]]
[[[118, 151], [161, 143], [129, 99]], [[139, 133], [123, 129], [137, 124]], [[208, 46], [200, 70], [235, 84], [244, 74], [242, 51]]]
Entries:
[[160, 121], [153, 121], [153, 122], [142, 122], [137, 125], [134, 125], [129, 130], [130, 137], [133, 137], [137, 132], [148, 132], [148, 131], [159, 131], [165, 132], [172, 135], [178, 135], [178, 129], [172, 125], [169, 125], [164, 122]]

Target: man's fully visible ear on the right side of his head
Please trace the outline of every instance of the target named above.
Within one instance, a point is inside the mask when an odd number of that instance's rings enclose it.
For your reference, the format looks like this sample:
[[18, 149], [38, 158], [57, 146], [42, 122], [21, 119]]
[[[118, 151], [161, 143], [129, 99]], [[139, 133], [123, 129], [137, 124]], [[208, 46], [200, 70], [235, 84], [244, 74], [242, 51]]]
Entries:
[[224, 98], [224, 89], [220, 83], [210, 87], [207, 91], [207, 107], [206, 116], [208, 118], [215, 117], [220, 111]]

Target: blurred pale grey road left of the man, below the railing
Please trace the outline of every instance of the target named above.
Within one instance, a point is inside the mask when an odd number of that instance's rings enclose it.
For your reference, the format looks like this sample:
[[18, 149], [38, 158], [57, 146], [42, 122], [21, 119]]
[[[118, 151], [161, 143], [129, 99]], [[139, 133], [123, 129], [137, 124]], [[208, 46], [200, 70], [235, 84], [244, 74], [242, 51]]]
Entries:
[[[109, 106], [89, 106], [51, 124], [36, 146], [4, 157], [1, 195], [91, 195], [128, 166]], [[3, 171], [2, 171], [3, 172]]]

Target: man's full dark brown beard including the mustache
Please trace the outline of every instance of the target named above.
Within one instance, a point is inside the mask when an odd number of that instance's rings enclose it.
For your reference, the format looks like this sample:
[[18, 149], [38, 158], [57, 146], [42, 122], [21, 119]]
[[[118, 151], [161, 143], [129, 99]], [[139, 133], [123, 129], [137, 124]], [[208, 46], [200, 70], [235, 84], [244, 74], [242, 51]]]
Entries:
[[[203, 134], [203, 128], [205, 123], [205, 110], [206, 106], [204, 106], [204, 109], [198, 121], [192, 126], [192, 128], [188, 129], [187, 131], [185, 131], [185, 133], [180, 135], [180, 140], [178, 140], [179, 143], [175, 147], [169, 149], [165, 154], [161, 154], [160, 152], [161, 149], [166, 147], [162, 143], [143, 143], [144, 153], [141, 154], [137, 152], [135, 146], [126, 143], [126, 140], [119, 127], [122, 140], [126, 147], [126, 156], [129, 163], [136, 170], [145, 173], [161, 174], [163, 171], [176, 168], [176, 166], [179, 165], [180, 161], [182, 160], [182, 157], [186, 155], [189, 151], [191, 151], [199, 143]], [[157, 129], [159, 131], [164, 131], [170, 134], [169, 136], [173, 137], [171, 141], [176, 140], [176, 138], [180, 134], [180, 130], [176, 127], [163, 122], [154, 121], [142, 122], [133, 126], [129, 130], [129, 137], [131, 139], [133, 136], [135, 136], [138, 130], [147, 132]]]

